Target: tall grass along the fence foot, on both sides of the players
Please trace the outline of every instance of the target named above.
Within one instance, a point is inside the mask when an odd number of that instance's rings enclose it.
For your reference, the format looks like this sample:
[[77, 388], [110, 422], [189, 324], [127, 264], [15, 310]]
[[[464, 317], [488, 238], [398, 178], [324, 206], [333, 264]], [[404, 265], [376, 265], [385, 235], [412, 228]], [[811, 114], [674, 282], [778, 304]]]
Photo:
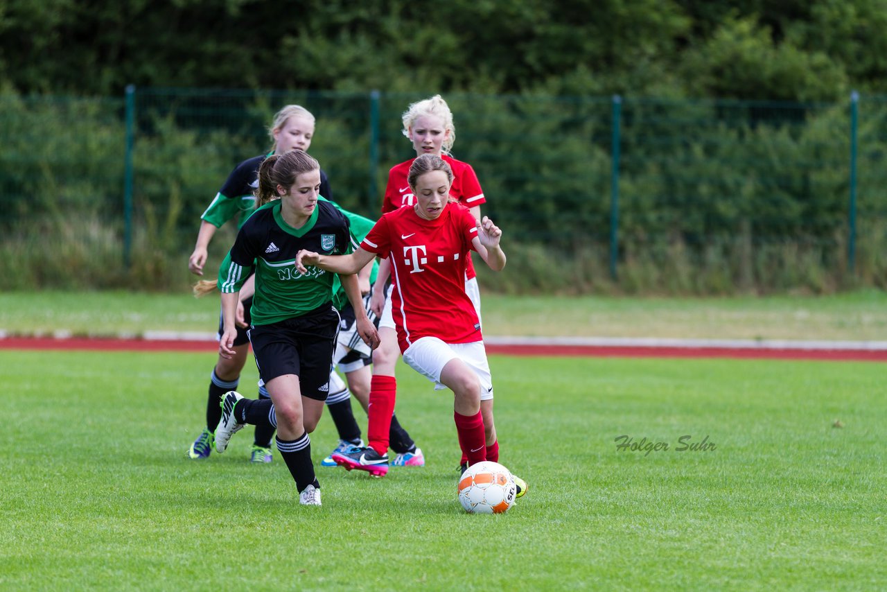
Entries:
[[[169, 218], [167, 218], [169, 220]], [[164, 225], [166, 226], [164, 228]], [[218, 233], [206, 273], [212, 276], [233, 241]], [[0, 286], [5, 290], [129, 288], [182, 291], [195, 278], [187, 271], [192, 244], [173, 237], [169, 224], [149, 218], [133, 235], [130, 261], [120, 233], [98, 216], [75, 215], [63, 224], [45, 222], [0, 241]], [[189, 235], [190, 237], [190, 235]], [[194, 233], [196, 237], [196, 232]], [[506, 270], [494, 273], [477, 258], [483, 289], [501, 294], [733, 296], [834, 294], [873, 286], [887, 288], [887, 233], [860, 242], [855, 271], [842, 241], [830, 244], [779, 241], [748, 248], [725, 239], [702, 250], [684, 241], [626, 246], [610, 275], [608, 247], [582, 245], [565, 253], [545, 245], [508, 242]]]

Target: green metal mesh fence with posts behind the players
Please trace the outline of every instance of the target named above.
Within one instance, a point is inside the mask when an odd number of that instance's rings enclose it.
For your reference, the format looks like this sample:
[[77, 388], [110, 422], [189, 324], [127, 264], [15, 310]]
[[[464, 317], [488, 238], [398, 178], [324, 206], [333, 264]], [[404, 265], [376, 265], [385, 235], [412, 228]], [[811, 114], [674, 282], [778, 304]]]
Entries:
[[[174, 288], [200, 213], [287, 103], [348, 209], [376, 217], [427, 95], [137, 89], [0, 95], [4, 288]], [[887, 99], [447, 95], [453, 154], [506, 232], [507, 289], [725, 293], [882, 284]], [[212, 264], [230, 246], [214, 241]], [[516, 257], [514, 257], [516, 255]], [[504, 276], [505, 277], [505, 276]]]

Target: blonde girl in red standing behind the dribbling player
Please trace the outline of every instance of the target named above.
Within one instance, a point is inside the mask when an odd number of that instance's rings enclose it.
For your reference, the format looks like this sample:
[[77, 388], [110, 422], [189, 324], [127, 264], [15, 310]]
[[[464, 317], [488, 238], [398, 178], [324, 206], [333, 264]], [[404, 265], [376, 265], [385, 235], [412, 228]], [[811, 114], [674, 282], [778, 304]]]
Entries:
[[[433, 154], [439, 156], [452, 170], [451, 197], [470, 209], [475, 220], [481, 219], [481, 204], [485, 202], [483, 189], [477, 180], [475, 170], [467, 162], [453, 158], [449, 153], [456, 140], [456, 130], [452, 122], [452, 112], [440, 95], [430, 99], [412, 103], [404, 112], [402, 118], [404, 124], [404, 136], [412, 141], [412, 147], [416, 156]], [[389, 171], [388, 186], [385, 189], [385, 198], [382, 203], [382, 214], [396, 209], [412, 207], [416, 202], [415, 194], [410, 189], [407, 181], [407, 173], [410, 170], [414, 158], [396, 164]], [[477, 287], [475, 268], [471, 258], [467, 258], [465, 274], [465, 291], [474, 304], [478, 320], [481, 316], [481, 295]], [[381, 345], [373, 352], [373, 382], [370, 391], [371, 408], [367, 430], [370, 446], [378, 450], [387, 449], [389, 434], [389, 415], [394, 412], [396, 399], [395, 367], [400, 351], [397, 349], [395, 323], [391, 315], [390, 289], [385, 291], [384, 286], [389, 279], [390, 264], [383, 259], [379, 268], [379, 276], [373, 289], [371, 306], [373, 312], [380, 318], [379, 333]], [[492, 415], [492, 394], [484, 393], [481, 411], [483, 422], [487, 430], [487, 444], [496, 442], [496, 428]], [[495, 460], [495, 459], [491, 459]], [[460, 461], [460, 472], [465, 469], [466, 457], [463, 454]], [[409, 464], [409, 454], [398, 454], [395, 464]]]

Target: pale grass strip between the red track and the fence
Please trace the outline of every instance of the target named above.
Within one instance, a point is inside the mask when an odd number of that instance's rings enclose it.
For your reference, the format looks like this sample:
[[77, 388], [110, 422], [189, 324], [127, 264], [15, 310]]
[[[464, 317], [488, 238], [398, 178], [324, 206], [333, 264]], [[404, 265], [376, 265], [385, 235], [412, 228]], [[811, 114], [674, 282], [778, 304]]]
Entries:
[[[485, 335], [887, 339], [887, 293], [640, 298], [483, 292]], [[218, 298], [144, 292], [0, 292], [0, 330], [16, 334], [211, 333]]]

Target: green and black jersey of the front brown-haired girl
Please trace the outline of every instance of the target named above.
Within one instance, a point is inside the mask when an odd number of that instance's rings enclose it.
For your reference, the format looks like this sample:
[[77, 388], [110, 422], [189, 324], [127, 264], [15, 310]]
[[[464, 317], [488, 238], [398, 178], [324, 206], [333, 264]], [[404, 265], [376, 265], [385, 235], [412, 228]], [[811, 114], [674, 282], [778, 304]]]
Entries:
[[[280, 205], [275, 200], [255, 210], [219, 268], [218, 286], [224, 293], [239, 291], [255, 272], [253, 325], [302, 316], [334, 299], [334, 273], [317, 267], [309, 267], [305, 275], [296, 271], [300, 249], [348, 255], [357, 248], [348, 218], [329, 201], [318, 201], [308, 222], [298, 229], [284, 221]], [[341, 301], [334, 304], [341, 308]]]

